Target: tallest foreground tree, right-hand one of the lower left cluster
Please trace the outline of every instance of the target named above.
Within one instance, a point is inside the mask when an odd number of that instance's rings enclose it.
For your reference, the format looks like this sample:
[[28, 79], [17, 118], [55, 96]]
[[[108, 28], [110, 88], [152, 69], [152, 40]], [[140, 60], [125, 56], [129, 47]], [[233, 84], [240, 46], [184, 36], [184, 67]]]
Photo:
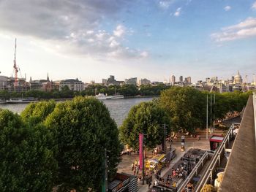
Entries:
[[61, 190], [99, 191], [108, 150], [110, 179], [116, 174], [121, 145], [118, 128], [107, 107], [94, 98], [77, 97], [56, 105], [45, 120], [58, 145]]

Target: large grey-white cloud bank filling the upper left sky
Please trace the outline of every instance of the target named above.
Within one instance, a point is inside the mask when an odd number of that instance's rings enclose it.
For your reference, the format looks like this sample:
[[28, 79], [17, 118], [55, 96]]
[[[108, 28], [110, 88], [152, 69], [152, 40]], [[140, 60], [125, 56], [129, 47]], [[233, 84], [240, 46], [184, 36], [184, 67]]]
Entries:
[[118, 25], [114, 31], [107, 31], [100, 25], [104, 18], [116, 18], [127, 8], [126, 0], [0, 2], [0, 31], [4, 34], [29, 37], [46, 50], [63, 55], [101, 59], [115, 53], [119, 58], [141, 57], [140, 50], [127, 50], [124, 45], [124, 37], [131, 35], [132, 29]]

